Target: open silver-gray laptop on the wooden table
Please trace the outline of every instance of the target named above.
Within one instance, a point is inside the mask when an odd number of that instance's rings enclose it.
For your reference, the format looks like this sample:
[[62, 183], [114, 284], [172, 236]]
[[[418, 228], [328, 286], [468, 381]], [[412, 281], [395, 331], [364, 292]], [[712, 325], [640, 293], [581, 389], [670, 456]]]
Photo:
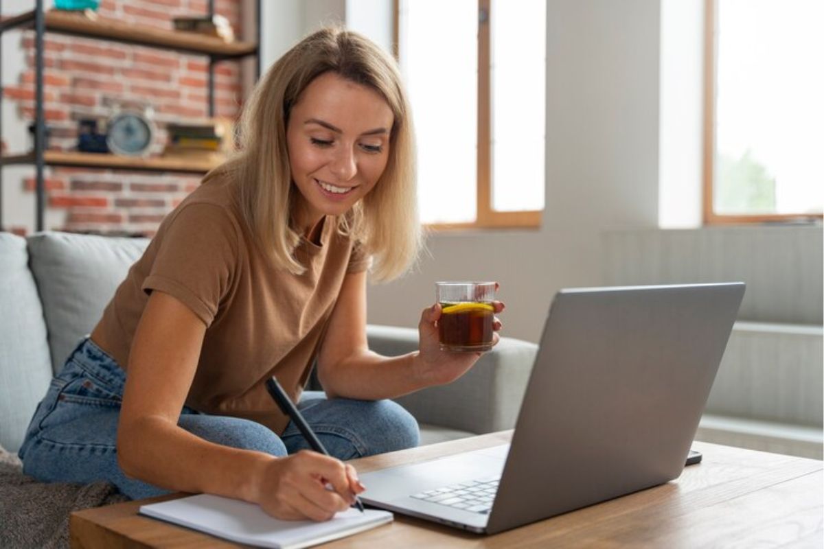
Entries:
[[361, 499], [496, 533], [678, 477], [743, 295], [742, 282], [559, 291], [512, 444], [364, 473]]

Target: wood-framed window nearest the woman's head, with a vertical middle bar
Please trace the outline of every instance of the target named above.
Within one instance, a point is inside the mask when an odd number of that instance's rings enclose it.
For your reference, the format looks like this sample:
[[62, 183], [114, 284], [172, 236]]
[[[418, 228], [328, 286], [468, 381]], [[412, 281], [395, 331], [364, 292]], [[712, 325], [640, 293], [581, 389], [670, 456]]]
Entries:
[[545, 13], [544, 0], [400, 0], [424, 223], [540, 224]]

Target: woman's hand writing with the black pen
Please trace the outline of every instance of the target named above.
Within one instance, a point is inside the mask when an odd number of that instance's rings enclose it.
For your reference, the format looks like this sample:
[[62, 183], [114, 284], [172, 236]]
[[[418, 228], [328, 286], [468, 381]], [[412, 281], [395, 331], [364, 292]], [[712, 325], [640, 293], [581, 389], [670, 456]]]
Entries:
[[329, 520], [366, 490], [351, 465], [310, 450], [265, 464], [256, 503], [276, 519]]

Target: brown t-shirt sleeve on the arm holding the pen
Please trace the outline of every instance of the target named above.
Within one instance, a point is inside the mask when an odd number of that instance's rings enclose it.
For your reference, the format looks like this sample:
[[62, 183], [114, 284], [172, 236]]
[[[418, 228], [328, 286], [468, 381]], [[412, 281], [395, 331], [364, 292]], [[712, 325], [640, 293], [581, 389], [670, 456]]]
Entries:
[[208, 327], [237, 268], [238, 228], [214, 204], [194, 202], [171, 215], [158, 231], [157, 254], [142, 288], [172, 295]]

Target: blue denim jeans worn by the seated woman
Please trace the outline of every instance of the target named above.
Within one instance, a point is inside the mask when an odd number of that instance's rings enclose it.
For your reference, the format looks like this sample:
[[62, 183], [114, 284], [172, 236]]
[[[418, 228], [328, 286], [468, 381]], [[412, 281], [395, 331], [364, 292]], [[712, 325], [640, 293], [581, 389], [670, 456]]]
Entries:
[[[166, 494], [126, 477], [117, 463], [117, 424], [125, 371], [91, 339], [84, 339], [52, 379], [20, 449], [23, 471], [45, 482], [108, 481], [133, 499]], [[391, 400], [326, 399], [307, 391], [297, 407], [330, 454], [360, 458], [418, 444], [414, 417]], [[217, 444], [275, 456], [309, 448], [289, 422], [283, 435], [237, 417], [210, 416], [184, 407], [178, 425]]]

